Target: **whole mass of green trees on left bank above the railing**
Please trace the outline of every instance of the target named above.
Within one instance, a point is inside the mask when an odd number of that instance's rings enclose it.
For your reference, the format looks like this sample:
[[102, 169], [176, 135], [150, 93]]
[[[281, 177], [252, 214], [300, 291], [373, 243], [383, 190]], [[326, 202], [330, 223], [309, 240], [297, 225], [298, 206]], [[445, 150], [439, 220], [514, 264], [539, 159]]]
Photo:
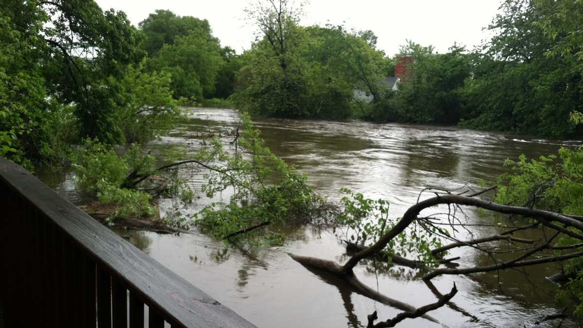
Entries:
[[0, 6], [2, 155], [64, 163], [85, 137], [145, 141], [177, 114], [168, 76], [143, 72], [141, 33], [93, 1]]

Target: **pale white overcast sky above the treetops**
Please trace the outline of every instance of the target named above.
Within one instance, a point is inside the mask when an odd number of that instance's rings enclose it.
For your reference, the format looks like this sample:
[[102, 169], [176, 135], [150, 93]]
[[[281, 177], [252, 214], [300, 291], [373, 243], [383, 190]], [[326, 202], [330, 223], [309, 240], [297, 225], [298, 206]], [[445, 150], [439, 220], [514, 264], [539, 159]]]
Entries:
[[[124, 11], [135, 26], [156, 9], [180, 16], [208, 19], [222, 46], [237, 53], [255, 39], [255, 27], [245, 20], [245, 0], [96, 0], [102, 9]], [[347, 29], [373, 30], [377, 47], [398, 53], [405, 40], [432, 44], [439, 53], [454, 41], [469, 49], [489, 35], [482, 31], [497, 12], [500, 0], [311, 0], [301, 25], [343, 24]]]

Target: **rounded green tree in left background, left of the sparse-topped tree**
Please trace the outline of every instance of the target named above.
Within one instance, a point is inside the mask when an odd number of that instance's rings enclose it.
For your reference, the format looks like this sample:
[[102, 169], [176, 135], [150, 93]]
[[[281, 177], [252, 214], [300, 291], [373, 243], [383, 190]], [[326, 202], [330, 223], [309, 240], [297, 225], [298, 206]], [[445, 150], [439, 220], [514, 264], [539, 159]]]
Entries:
[[139, 27], [145, 35], [142, 48], [150, 56], [147, 68], [171, 76], [175, 99], [201, 102], [231, 95], [239, 69], [237, 55], [220, 46], [206, 19], [157, 10]]

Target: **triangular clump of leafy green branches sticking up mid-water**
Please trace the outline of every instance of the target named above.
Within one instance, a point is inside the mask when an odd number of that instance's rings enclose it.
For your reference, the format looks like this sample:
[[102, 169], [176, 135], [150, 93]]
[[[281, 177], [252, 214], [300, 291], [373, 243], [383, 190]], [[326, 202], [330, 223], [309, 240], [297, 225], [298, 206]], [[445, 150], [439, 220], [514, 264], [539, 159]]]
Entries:
[[[196, 214], [202, 231], [218, 239], [264, 222], [269, 224], [319, 224], [328, 222], [333, 207], [307, 184], [307, 177], [275, 156], [252, 127], [248, 114], [241, 116], [240, 135], [234, 150], [224, 149], [214, 138], [199, 158], [209, 164], [202, 192], [208, 197], [232, 190], [228, 203], [212, 203]], [[249, 233], [245, 233], [249, 235]], [[285, 235], [275, 240], [282, 241]]]

